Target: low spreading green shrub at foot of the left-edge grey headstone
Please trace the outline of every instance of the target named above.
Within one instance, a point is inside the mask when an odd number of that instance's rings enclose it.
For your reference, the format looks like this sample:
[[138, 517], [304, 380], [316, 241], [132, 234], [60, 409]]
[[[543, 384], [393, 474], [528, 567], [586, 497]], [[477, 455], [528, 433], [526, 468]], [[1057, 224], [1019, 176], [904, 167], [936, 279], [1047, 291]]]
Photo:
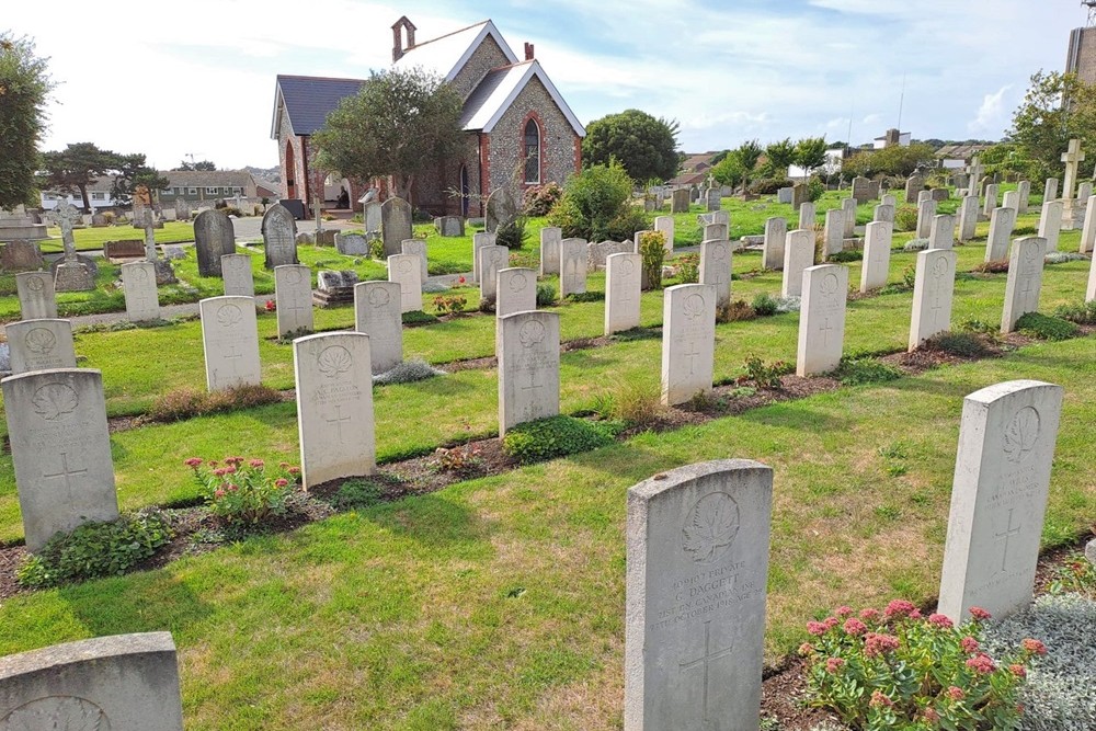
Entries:
[[151, 558], [174, 536], [167, 516], [146, 509], [116, 521], [92, 522], [57, 534], [16, 569], [31, 589], [125, 573]]

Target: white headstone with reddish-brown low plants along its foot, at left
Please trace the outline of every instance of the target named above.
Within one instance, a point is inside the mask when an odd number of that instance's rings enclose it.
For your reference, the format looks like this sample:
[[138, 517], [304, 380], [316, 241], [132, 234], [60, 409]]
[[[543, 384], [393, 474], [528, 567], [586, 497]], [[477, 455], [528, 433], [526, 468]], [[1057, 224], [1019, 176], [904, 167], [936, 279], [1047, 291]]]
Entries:
[[206, 389], [222, 391], [262, 381], [255, 300], [251, 297], [209, 297], [198, 302]]

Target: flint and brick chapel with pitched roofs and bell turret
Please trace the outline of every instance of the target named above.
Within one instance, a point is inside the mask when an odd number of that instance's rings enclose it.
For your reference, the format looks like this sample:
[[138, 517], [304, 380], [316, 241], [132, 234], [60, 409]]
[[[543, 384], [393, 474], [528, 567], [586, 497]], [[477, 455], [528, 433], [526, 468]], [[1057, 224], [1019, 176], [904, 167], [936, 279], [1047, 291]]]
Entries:
[[[518, 59], [490, 20], [422, 43], [414, 34], [407, 16], [392, 25], [391, 68], [421, 67], [457, 90], [465, 100], [460, 124], [467, 146], [433, 174], [415, 178], [412, 205], [433, 215], [481, 216], [487, 196], [496, 189], [511, 186], [520, 201], [525, 189], [549, 182], [562, 185], [579, 171], [586, 132], [534, 58], [533, 44], [525, 44], [525, 59]], [[271, 136], [278, 142], [283, 197], [311, 209], [306, 184], [313, 174], [308, 170], [310, 137], [328, 113], [363, 83], [278, 75]], [[386, 197], [385, 181], [333, 182], [336, 193], [340, 186], [346, 189], [356, 209], [369, 185], [377, 185], [380, 198]], [[452, 191], [463, 195], [449, 195]]]

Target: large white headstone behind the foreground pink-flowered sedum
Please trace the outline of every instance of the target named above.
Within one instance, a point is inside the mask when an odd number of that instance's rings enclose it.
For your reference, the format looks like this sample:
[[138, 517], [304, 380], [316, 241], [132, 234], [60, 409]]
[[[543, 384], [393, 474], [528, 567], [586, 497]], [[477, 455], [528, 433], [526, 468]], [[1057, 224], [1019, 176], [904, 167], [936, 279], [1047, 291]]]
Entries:
[[938, 612], [1001, 619], [1031, 602], [1062, 387], [996, 384], [963, 399]]

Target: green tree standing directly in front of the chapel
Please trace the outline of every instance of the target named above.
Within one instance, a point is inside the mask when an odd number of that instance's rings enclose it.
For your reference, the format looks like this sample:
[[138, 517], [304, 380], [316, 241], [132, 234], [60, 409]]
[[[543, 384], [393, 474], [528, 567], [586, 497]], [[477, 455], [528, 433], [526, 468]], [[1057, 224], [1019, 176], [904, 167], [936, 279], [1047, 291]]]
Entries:
[[464, 102], [441, 77], [414, 68], [374, 72], [312, 136], [321, 165], [359, 181], [391, 176], [409, 199], [415, 178], [465, 144]]

